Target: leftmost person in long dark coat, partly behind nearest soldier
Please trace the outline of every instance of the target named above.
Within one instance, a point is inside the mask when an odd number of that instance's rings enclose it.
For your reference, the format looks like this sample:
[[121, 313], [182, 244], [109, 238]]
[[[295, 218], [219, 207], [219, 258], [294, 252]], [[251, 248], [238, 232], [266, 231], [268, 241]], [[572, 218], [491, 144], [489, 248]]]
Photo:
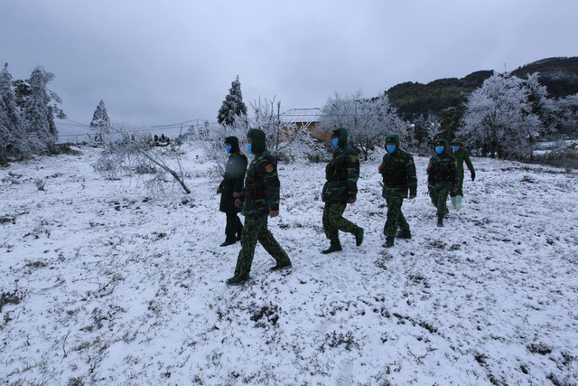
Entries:
[[225, 150], [229, 154], [223, 181], [217, 188], [220, 194], [219, 211], [227, 215], [227, 225], [225, 226], [225, 241], [220, 245], [226, 247], [241, 240], [243, 223], [238, 218], [238, 208], [235, 200], [243, 189], [243, 180], [247, 171], [247, 156], [241, 153], [238, 147], [238, 137], [225, 138]]

